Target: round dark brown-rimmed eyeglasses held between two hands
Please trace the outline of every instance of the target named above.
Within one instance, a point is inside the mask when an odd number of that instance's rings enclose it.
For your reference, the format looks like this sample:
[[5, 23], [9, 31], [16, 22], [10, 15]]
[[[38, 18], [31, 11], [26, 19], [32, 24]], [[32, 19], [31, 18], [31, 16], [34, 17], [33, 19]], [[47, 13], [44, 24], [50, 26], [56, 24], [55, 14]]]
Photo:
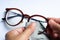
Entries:
[[[26, 20], [28, 22], [36, 22], [36, 33], [45, 34], [48, 38], [50, 36], [46, 34], [48, 26], [48, 19], [42, 15], [29, 16], [24, 14], [20, 9], [17, 8], [6, 8], [5, 17], [2, 18], [9, 26], [17, 26]], [[50, 28], [49, 28], [50, 29]]]

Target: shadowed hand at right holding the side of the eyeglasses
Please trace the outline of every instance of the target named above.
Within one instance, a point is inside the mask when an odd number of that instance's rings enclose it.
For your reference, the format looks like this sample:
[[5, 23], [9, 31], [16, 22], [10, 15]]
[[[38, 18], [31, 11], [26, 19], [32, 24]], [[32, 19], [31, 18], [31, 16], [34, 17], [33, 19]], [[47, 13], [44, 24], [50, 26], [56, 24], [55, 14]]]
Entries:
[[54, 38], [54, 40], [60, 40], [60, 18], [48, 18], [48, 19], [49, 25], [53, 30], [52, 31], [53, 34], [50, 35]]

